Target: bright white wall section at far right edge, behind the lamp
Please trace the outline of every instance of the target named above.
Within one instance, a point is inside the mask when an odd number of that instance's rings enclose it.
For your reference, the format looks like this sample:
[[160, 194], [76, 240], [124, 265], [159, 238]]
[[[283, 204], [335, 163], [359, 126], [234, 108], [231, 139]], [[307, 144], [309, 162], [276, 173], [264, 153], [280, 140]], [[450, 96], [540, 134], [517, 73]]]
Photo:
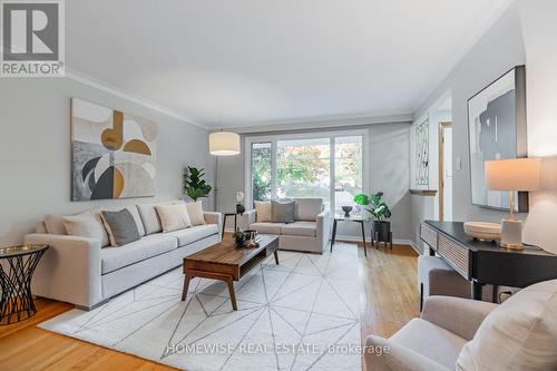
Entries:
[[544, 157], [525, 238], [557, 253], [557, 1], [519, 1], [526, 48], [528, 153]]

